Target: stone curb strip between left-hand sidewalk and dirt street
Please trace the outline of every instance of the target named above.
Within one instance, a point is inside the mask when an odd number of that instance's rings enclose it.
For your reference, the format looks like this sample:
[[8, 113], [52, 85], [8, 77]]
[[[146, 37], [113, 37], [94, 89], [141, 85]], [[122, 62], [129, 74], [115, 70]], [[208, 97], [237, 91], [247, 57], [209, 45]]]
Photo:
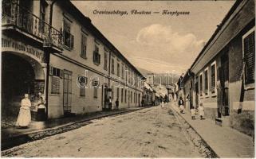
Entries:
[[[26, 133], [26, 134], [14, 136], [12, 138], [9, 138], [8, 140], [17, 141], [18, 143], [14, 146], [8, 146], [7, 145], [6, 147], [5, 146], [1, 147], [2, 156], [6, 156], [9, 153], [12, 153], [13, 150], [11, 150], [11, 148], [13, 148], [15, 146], [22, 145], [22, 144], [27, 143], [27, 142], [37, 141], [37, 140], [40, 140], [42, 138], [50, 137], [50, 136], [53, 136], [53, 135], [56, 135], [56, 134], [62, 134], [62, 133], [65, 133], [67, 131], [70, 131], [70, 130], [78, 129], [81, 126], [86, 126], [89, 123], [92, 123], [92, 122], [90, 122], [91, 120], [98, 119], [98, 118], [105, 118], [105, 117], [109, 117], [109, 116], [114, 116], [114, 115], [117, 115], [117, 114], [126, 114], [126, 113], [133, 112], [133, 111], [140, 111], [142, 109], [144, 109], [144, 107], [139, 108], [139, 109], [134, 109], [134, 110], [120, 111], [120, 112], [116, 112], [116, 113], [113, 113], [113, 114], [105, 114], [105, 115], [98, 116], [98, 117], [95, 117], [95, 118], [87, 118], [87, 119], [84, 119], [84, 120], [81, 120], [81, 121], [78, 121], [78, 122], [72, 122], [72, 123], [68, 123], [68, 124], [65, 124], [65, 125], [61, 125], [61, 126], [55, 126], [55, 127], [47, 128], [47, 129], [44, 129], [44, 130], [37, 130], [37, 131], [29, 132], [29, 133]], [[10, 151], [8, 149], [10, 149]], [[6, 151], [4, 151], [4, 150], [6, 150]]]

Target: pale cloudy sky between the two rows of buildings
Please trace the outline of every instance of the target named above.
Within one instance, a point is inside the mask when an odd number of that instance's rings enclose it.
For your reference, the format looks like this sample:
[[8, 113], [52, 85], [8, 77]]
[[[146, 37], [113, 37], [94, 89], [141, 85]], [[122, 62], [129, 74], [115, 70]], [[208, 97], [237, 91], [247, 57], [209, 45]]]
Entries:
[[[72, 2], [134, 66], [175, 74], [190, 68], [234, 4], [234, 1]], [[128, 14], [95, 14], [95, 10], [120, 10]], [[132, 10], [152, 14], [131, 14]], [[162, 14], [163, 10], [189, 14]]]

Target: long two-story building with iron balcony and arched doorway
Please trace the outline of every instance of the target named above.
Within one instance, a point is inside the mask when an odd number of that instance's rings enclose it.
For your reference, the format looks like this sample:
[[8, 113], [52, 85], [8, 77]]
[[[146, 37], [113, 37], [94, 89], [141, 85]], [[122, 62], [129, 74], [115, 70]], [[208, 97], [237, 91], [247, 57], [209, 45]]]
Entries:
[[25, 93], [36, 103], [38, 92], [48, 118], [102, 111], [117, 98], [139, 107], [141, 80], [69, 0], [2, 1], [2, 115], [17, 115]]

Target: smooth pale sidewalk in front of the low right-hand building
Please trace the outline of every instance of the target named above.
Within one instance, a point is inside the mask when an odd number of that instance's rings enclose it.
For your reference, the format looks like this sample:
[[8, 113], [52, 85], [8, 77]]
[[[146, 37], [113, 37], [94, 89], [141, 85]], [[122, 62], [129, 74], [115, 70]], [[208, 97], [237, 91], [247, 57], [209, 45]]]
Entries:
[[187, 110], [185, 114], [180, 114], [179, 107], [175, 103], [171, 103], [171, 107], [191, 125], [219, 157], [254, 157], [253, 138], [250, 136], [229, 127], [217, 126], [211, 119], [200, 120], [198, 114], [195, 120], [191, 120], [191, 113]]

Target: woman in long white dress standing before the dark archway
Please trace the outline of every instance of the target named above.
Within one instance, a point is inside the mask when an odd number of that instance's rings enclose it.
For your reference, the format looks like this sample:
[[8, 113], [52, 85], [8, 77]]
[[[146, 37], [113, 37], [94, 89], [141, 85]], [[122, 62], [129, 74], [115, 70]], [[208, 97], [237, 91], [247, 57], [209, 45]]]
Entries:
[[29, 126], [31, 122], [30, 107], [31, 103], [29, 95], [25, 94], [25, 98], [22, 99], [22, 107], [20, 108], [20, 112], [18, 114], [16, 126], [20, 126], [22, 128], [26, 128]]

